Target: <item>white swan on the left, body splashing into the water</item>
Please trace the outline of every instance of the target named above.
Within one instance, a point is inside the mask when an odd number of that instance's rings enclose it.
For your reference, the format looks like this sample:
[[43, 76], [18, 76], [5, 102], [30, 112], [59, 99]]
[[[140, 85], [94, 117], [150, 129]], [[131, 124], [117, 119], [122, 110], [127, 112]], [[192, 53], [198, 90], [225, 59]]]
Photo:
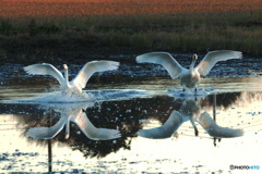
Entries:
[[24, 70], [28, 74], [53, 76], [61, 85], [63, 94], [82, 94], [82, 89], [95, 72], [117, 70], [119, 62], [115, 61], [92, 61], [86, 63], [71, 82], [69, 82], [67, 64], [63, 64], [64, 77], [61, 72], [49, 63], [28, 65], [25, 66]]

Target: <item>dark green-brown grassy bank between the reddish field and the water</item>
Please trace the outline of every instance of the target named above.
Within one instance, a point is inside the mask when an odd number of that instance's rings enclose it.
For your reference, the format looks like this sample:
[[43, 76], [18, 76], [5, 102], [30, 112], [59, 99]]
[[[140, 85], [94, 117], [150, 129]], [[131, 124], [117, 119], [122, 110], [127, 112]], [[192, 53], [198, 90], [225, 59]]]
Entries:
[[260, 57], [261, 27], [262, 12], [253, 10], [4, 16], [0, 18], [0, 60], [52, 62], [159, 50], [200, 53], [207, 48]]

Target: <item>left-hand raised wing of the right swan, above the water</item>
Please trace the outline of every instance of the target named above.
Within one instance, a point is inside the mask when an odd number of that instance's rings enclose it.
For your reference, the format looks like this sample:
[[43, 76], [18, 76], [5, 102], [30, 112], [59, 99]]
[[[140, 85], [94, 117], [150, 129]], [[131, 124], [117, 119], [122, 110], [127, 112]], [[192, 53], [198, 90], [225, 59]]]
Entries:
[[150, 52], [136, 57], [136, 62], [156, 63], [163, 65], [172, 78], [177, 78], [184, 70], [168, 52]]

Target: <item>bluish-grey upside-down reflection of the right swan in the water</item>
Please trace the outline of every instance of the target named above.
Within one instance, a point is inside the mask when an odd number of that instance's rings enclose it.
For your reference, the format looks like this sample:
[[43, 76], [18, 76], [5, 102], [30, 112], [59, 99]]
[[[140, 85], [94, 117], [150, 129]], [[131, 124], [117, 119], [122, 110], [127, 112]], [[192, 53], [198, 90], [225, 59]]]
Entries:
[[201, 108], [195, 100], [184, 100], [179, 111], [172, 111], [169, 119], [163, 126], [140, 129], [139, 136], [152, 139], [164, 139], [172, 136], [174, 133], [182, 125], [183, 122], [190, 121], [195, 136], [199, 135], [199, 130], [194, 124], [198, 122], [206, 133], [215, 138], [231, 138], [243, 135], [242, 129], [233, 129], [228, 127], [222, 127], [211, 117], [207, 112], [201, 113]]

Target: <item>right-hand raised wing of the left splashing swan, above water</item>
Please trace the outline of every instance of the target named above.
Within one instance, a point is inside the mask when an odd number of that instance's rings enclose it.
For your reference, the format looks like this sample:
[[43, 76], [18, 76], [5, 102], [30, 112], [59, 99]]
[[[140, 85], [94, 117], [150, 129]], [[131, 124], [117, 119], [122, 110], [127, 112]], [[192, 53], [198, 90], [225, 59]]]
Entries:
[[75, 78], [72, 80], [82, 88], [85, 87], [87, 80], [95, 72], [104, 72], [109, 70], [117, 70], [119, 62], [116, 61], [92, 61], [86, 63]]

